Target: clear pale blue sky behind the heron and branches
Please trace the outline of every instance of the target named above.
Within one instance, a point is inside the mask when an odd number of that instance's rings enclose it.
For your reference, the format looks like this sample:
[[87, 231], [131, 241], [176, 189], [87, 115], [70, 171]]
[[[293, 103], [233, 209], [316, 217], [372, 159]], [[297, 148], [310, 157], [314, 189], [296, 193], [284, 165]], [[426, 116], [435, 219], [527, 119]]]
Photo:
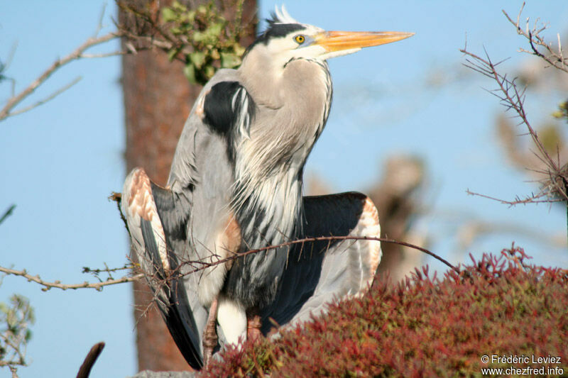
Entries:
[[[499, 3], [499, 4], [497, 4]], [[0, 60], [16, 52], [6, 75], [16, 90], [37, 77], [56, 57], [67, 55], [97, 27], [103, 1], [0, 2]], [[261, 3], [268, 16], [274, 1]], [[278, 2], [280, 4], [280, 2]], [[381, 161], [405, 152], [426, 164], [430, 208], [417, 221], [429, 247], [452, 262], [459, 224], [479, 218], [514, 223], [543, 235], [565, 232], [565, 213], [550, 206], [507, 206], [467, 196], [466, 189], [512, 199], [536, 188], [512, 169], [496, 143], [493, 121], [503, 111], [484, 91], [492, 83], [461, 67], [459, 48], [467, 38], [472, 52], [485, 47], [495, 60], [511, 57], [503, 70], [530, 60], [516, 49], [524, 41], [501, 9], [516, 16], [520, 1], [287, 1], [298, 21], [330, 30], [413, 31], [413, 38], [331, 60], [334, 104], [326, 130], [308, 160], [336, 191], [365, 191], [381, 171]], [[107, 5], [103, 30], [112, 29]], [[525, 16], [550, 22], [555, 39], [568, 24], [568, 3], [531, 1]], [[94, 51], [112, 51], [114, 41]], [[447, 84], [432, 86], [432, 73]], [[77, 76], [75, 87], [29, 113], [0, 123], [0, 211], [16, 211], [0, 226], [0, 265], [26, 268], [43, 279], [65, 283], [90, 277], [82, 267], [124, 265], [128, 245], [116, 206], [107, 200], [124, 180], [124, 124], [120, 58], [73, 62], [51, 77], [28, 103], [43, 98]], [[457, 78], [457, 79], [453, 79]], [[0, 83], [0, 104], [10, 95]], [[562, 96], [530, 94], [529, 116], [547, 121]], [[543, 110], [544, 109], [544, 110]], [[499, 252], [515, 240], [535, 262], [566, 266], [566, 250], [542, 247], [524, 235], [481, 238], [467, 252]], [[432, 267], [442, 269], [427, 260]], [[131, 287], [102, 292], [44, 293], [19, 277], [5, 277], [0, 301], [17, 292], [31, 299], [37, 322], [28, 348], [26, 377], [68, 377], [77, 373], [89, 348], [104, 340], [92, 377], [124, 377], [136, 372]], [[0, 370], [0, 377], [8, 377]]]

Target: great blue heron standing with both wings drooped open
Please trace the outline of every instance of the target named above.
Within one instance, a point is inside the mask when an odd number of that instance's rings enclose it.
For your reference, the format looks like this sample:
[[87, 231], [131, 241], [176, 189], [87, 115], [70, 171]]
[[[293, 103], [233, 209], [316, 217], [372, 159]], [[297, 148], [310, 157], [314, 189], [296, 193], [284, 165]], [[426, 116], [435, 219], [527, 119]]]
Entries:
[[[192, 367], [217, 343], [202, 349], [206, 325], [210, 335], [217, 321], [225, 342], [238, 343], [247, 315], [260, 318], [266, 333], [269, 318], [280, 325], [306, 319], [334, 297], [368, 287], [381, 250], [365, 240], [216, 262], [305, 236], [379, 236], [371, 200], [354, 193], [302, 198], [302, 174], [332, 101], [326, 60], [410, 35], [324, 31], [277, 10], [241, 67], [219, 70], [203, 88], [168, 186], [139, 168], [126, 178], [122, 208], [133, 250]], [[196, 267], [204, 269], [187, 274]]]

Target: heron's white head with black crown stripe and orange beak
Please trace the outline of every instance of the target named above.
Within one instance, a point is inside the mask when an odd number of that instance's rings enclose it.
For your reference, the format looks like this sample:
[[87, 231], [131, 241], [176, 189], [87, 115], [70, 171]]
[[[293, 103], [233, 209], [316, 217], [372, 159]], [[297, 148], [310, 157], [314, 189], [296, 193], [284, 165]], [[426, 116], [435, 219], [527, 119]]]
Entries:
[[282, 7], [281, 11], [276, 9], [273, 18], [268, 20], [268, 28], [249, 47], [245, 60], [247, 57], [270, 60], [280, 67], [294, 59], [324, 61], [352, 54], [361, 48], [403, 40], [413, 34], [392, 31], [326, 31], [295, 21]]

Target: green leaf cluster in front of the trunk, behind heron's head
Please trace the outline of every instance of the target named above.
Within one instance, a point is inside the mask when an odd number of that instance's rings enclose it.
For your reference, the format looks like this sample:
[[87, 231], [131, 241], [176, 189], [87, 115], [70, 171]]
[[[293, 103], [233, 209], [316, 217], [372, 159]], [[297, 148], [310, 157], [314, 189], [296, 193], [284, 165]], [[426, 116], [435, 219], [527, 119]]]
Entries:
[[241, 65], [245, 52], [240, 43], [243, 1], [238, 1], [236, 7], [236, 18], [232, 22], [221, 15], [214, 1], [192, 10], [174, 1], [162, 9], [163, 23], [168, 24], [170, 33], [183, 41], [182, 45], [168, 51], [168, 57], [173, 60], [183, 52], [184, 74], [192, 84], [205, 84], [219, 68]]

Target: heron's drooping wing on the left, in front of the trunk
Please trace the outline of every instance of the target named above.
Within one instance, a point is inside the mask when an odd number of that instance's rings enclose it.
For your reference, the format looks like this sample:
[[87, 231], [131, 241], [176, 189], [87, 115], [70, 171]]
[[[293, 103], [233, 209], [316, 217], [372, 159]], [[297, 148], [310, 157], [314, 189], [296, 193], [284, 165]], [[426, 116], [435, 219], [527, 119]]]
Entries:
[[190, 208], [180, 206], [177, 194], [153, 184], [139, 168], [126, 177], [122, 195], [121, 206], [129, 225], [132, 248], [158, 308], [187, 363], [200, 369], [201, 332], [182, 277], [178, 277], [178, 257], [172, 249], [185, 238], [183, 220], [187, 220]]

